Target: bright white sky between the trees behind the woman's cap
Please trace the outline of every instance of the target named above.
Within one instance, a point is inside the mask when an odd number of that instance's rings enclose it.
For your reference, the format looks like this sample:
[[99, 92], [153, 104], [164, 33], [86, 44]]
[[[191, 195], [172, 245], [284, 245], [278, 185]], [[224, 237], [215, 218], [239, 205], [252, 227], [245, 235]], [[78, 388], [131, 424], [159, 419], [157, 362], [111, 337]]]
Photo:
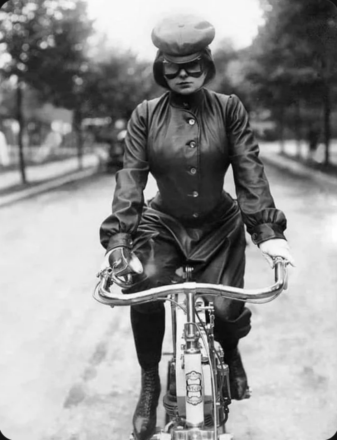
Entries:
[[262, 24], [258, 0], [87, 0], [95, 28], [106, 32], [114, 46], [131, 48], [141, 58], [154, 59], [156, 48], [151, 30], [163, 16], [176, 12], [195, 13], [212, 23], [216, 36], [211, 48], [225, 37], [235, 47], [251, 43]]

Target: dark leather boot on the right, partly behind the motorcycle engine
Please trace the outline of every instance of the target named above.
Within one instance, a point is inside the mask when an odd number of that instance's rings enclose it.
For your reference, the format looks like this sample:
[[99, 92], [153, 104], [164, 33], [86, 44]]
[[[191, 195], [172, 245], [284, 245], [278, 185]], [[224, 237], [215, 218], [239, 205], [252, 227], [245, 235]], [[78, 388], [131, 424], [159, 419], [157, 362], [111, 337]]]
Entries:
[[224, 361], [229, 367], [229, 384], [231, 387], [231, 398], [235, 400], [248, 399], [250, 390], [247, 376], [242, 365], [238, 347], [223, 350]]

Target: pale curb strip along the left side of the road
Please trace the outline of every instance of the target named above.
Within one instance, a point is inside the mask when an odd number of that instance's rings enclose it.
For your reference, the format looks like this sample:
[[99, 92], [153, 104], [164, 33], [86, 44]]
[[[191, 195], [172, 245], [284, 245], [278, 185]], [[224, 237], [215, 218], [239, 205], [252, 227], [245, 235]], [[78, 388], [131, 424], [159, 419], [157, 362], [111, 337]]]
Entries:
[[37, 184], [31, 188], [27, 188], [12, 194], [7, 194], [0, 196], [0, 208], [11, 205], [12, 203], [19, 202], [34, 195], [44, 193], [46, 191], [61, 187], [66, 183], [74, 182], [76, 180], [85, 179], [86, 177], [93, 176], [98, 172], [99, 168], [97, 166], [90, 167], [81, 171], [72, 172], [66, 174], [65, 176], [56, 177], [55, 179], [48, 180], [41, 184]]

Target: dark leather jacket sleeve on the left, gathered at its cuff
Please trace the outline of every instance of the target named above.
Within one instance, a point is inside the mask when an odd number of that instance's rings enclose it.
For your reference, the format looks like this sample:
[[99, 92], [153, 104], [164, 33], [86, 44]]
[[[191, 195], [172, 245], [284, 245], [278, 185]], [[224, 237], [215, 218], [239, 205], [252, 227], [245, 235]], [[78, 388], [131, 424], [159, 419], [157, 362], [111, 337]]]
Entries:
[[99, 235], [107, 251], [132, 247], [142, 214], [149, 164], [147, 161], [147, 101], [139, 104], [128, 121], [123, 169], [116, 174], [112, 214], [103, 221]]

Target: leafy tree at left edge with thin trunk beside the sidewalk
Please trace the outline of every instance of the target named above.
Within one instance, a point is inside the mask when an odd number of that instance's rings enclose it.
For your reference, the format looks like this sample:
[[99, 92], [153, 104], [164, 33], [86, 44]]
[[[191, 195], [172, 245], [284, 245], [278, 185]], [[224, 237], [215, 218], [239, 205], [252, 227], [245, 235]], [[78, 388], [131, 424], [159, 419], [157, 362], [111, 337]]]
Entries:
[[76, 110], [76, 88], [81, 85], [81, 73], [85, 72], [83, 41], [92, 32], [91, 26], [82, 0], [11, 0], [1, 8], [0, 49], [7, 54], [7, 62], [0, 74], [17, 80], [16, 119], [20, 126], [18, 144], [23, 183], [26, 182], [22, 142], [25, 84], [36, 88], [42, 97]]

